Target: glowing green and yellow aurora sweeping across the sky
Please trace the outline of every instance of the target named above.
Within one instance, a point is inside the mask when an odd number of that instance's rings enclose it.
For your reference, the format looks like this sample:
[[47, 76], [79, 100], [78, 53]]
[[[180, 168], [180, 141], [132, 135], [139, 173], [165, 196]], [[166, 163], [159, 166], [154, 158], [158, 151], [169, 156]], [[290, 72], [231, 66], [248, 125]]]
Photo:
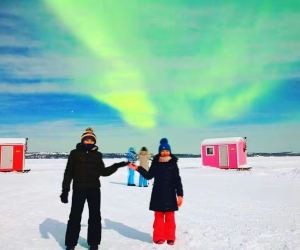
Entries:
[[299, 1], [45, 3], [102, 65], [74, 88], [138, 128], [242, 120], [299, 60]]

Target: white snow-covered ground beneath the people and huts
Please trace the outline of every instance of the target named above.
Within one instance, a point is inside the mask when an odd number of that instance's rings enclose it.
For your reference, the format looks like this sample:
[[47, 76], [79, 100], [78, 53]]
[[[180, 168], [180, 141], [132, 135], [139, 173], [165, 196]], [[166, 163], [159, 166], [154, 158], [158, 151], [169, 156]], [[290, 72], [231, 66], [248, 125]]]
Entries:
[[[64, 249], [65, 164], [27, 160], [29, 173], [0, 173], [0, 249]], [[152, 243], [151, 185], [128, 187], [126, 168], [101, 177], [100, 249], [300, 249], [300, 157], [254, 157], [248, 165], [250, 171], [219, 170], [179, 159], [184, 203], [174, 246]], [[88, 248], [87, 219], [86, 204], [76, 249]]]

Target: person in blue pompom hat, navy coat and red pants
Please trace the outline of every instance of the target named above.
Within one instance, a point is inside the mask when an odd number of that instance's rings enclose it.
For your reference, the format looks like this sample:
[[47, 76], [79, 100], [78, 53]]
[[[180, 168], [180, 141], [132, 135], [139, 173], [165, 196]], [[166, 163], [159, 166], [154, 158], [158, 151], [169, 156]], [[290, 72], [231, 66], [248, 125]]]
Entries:
[[154, 211], [153, 242], [169, 245], [175, 243], [175, 213], [183, 201], [183, 188], [177, 158], [171, 154], [171, 147], [166, 138], [160, 140], [159, 154], [154, 156], [149, 171], [143, 167], [129, 164], [142, 176], [154, 178], [150, 210]]

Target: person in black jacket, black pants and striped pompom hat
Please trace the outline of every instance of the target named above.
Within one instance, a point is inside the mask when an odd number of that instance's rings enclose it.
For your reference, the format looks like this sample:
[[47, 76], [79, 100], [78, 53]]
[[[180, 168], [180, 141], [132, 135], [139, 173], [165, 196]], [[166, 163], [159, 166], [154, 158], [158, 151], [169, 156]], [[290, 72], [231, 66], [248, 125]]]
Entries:
[[82, 134], [81, 143], [78, 143], [76, 149], [69, 155], [60, 195], [61, 201], [68, 203], [70, 184], [73, 181], [72, 205], [65, 237], [66, 249], [75, 249], [77, 245], [85, 201], [89, 207], [87, 242], [91, 250], [98, 249], [102, 231], [99, 177], [109, 176], [119, 167], [127, 164], [127, 162], [119, 162], [105, 167], [102, 154], [96, 146], [96, 135], [93, 129], [87, 128]]

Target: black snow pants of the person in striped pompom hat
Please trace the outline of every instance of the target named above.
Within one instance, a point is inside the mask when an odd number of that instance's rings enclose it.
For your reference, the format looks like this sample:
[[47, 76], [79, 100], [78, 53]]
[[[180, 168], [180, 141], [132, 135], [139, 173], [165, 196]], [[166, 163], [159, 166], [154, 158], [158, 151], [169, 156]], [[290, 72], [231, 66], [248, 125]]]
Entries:
[[66, 246], [76, 246], [80, 233], [81, 215], [84, 203], [89, 207], [88, 235], [89, 245], [99, 245], [101, 241], [101, 193], [99, 188], [73, 190], [72, 206], [66, 231]]

